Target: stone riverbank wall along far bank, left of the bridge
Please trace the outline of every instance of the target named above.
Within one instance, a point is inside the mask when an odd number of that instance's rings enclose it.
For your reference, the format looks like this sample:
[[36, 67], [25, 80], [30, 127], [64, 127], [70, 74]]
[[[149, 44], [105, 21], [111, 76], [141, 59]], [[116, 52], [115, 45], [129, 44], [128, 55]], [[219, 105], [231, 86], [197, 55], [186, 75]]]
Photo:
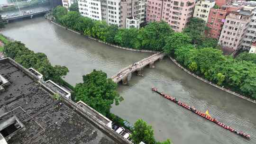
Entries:
[[[64, 27], [64, 26], [61, 26], [60, 24], [57, 24], [57, 23], [53, 22], [52, 20], [50, 20], [50, 22], [53, 23], [53, 24], [55, 24], [55, 25], [57, 25], [57, 26], [59, 26], [59, 27], [62, 27], [62, 28], [64, 28], [64, 29], [66, 29], [66, 30], [72, 31], [73, 33], [76, 33], [76, 34], [78, 34], [78, 35], [83, 35], [83, 34], [77, 32], [77, 31], [74, 31], [74, 30], [69, 29], [69, 28]], [[100, 42], [100, 43], [102, 43], [102, 44], [109, 45], [109, 46], [113, 46], [113, 47], [115, 47], [115, 48], [119, 48], [119, 49], [123, 49], [123, 50], [128, 50], [128, 51], [133, 51], [133, 52], [142, 52], [142, 53], [152, 53], [152, 54], [159, 53], [159, 52], [157, 52], [157, 51], [138, 50], [138, 49], [133, 49], [133, 48], [128, 48], [128, 47], [122, 47], [122, 46], [119, 46], [119, 45], [112, 45], [112, 44], [110, 44], [110, 43], [103, 42], [103, 41], [101, 41], [101, 40], [99, 40], [99, 39], [97, 39], [97, 38], [93, 38], [93, 37], [90, 37], [90, 36], [86, 36], [86, 37], [88, 37], [88, 38], [90, 38], [90, 39], [92, 39], [92, 40], [94, 40], [94, 41]]]

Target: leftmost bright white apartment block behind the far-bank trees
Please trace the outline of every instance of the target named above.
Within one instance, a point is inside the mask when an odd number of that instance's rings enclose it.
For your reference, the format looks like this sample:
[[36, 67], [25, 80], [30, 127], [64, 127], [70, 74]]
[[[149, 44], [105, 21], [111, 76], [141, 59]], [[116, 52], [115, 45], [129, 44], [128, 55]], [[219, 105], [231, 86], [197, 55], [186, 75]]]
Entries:
[[78, 8], [82, 16], [102, 20], [101, 0], [78, 0]]

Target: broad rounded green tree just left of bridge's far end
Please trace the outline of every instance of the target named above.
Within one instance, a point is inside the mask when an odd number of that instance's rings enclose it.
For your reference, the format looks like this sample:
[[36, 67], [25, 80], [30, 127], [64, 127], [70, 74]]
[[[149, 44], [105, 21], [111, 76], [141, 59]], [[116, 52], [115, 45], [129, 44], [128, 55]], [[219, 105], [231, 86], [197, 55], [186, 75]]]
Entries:
[[138, 38], [142, 49], [162, 51], [165, 39], [173, 33], [174, 30], [166, 22], [152, 22], [141, 28]]

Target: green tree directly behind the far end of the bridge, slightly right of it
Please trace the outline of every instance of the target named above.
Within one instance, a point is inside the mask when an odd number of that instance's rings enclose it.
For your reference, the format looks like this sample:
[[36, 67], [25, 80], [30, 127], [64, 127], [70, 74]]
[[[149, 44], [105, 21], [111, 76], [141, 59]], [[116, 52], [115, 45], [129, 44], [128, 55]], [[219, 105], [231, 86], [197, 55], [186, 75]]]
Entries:
[[183, 33], [174, 33], [172, 36], [168, 36], [165, 40], [164, 52], [166, 54], [174, 53], [175, 49], [188, 45], [191, 43], [191, 38]]

